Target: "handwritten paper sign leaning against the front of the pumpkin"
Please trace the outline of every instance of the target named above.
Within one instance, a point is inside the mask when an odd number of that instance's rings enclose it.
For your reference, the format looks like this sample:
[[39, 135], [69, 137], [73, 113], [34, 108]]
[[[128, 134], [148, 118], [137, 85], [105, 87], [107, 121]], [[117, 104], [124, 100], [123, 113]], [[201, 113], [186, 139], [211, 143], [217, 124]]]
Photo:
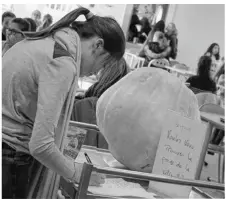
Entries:
[[[195, 179], [206, 140], [206, 125], [168, 111], [152, 173], [180, 179]], [[170, 197], [188, 198], [191, 187], [150, 182], [149, 187]]]

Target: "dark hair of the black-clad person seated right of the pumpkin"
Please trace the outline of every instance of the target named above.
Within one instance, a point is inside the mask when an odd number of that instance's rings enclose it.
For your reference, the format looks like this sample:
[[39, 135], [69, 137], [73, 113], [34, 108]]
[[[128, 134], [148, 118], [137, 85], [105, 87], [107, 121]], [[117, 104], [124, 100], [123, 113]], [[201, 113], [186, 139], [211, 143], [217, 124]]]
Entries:
[[210, 67], [212, 59], [209, 56], [202, 56], [198, 62], [197, 74], [200, 77], [210, 78]]

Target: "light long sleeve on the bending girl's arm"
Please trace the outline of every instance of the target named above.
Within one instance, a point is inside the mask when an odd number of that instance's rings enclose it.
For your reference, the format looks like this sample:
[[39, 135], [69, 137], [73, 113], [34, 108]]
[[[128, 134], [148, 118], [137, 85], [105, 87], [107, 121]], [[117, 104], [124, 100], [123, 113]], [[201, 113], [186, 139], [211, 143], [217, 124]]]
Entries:
[[78, 176], [75, 173], [74, 162], [64, 157], [56, 146], [54, 132], [74, 75], [76, 63], [70, 57], [53, 59], [41, 69], [37, 112], [29, 142], [31, 155], [66, 179]]

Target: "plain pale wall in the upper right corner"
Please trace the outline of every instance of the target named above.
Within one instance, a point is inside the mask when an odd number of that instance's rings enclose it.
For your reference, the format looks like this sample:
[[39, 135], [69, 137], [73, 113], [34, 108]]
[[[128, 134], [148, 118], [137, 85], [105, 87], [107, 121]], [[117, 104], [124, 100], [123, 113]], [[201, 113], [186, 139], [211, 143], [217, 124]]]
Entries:
[[[177, 60], [194, 70], [200, 56], [213, 42], [225, 54], [225, 7], [216, 4], [178, 4], [170, 17], [178, 29]], [[170, 22], [169, 20], [167, 22]]]

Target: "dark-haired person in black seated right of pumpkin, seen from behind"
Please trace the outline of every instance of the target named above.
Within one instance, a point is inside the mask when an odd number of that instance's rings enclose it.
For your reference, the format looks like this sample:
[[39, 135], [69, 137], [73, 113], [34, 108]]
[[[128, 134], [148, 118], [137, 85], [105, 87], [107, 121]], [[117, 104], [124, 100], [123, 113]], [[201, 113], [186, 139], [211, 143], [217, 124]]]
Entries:
[[213, 80], [213, 74], [215, 74], [214, 67], [209, 56], [202, 56], [198, 62], [197, 76], [188, 78], [186, 82], [190, 83], [190, 87], [216, 93], [217, 87]]

